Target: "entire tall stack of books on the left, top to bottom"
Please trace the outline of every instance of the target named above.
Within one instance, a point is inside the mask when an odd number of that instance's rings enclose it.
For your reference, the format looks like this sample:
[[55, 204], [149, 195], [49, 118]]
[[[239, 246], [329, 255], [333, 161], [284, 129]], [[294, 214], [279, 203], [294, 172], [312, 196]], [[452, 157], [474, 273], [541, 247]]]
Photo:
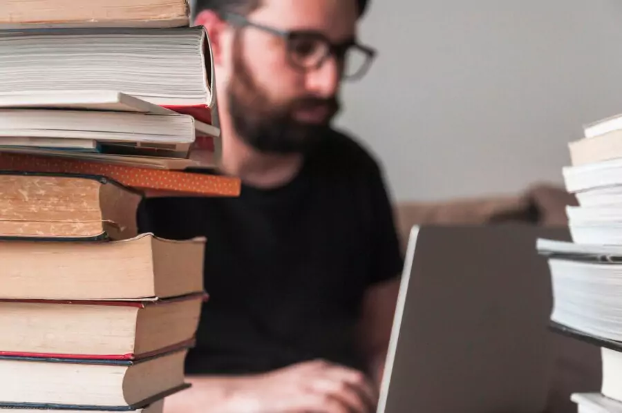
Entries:
[[205, 30], [186, 0], [1, 1], [0, 78], [0, 412], [160, 413], [206, 240], [139, 233], [138, 206], [240, 191], [210, 172]]

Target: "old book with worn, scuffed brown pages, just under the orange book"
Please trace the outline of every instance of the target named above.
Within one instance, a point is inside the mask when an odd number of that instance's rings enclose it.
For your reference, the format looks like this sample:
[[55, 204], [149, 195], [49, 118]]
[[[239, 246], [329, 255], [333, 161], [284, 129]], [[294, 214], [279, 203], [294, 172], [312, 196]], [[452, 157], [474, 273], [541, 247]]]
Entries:
[[138, 236], [142, 195], [100, 176], [0, 173], [0, 238]]

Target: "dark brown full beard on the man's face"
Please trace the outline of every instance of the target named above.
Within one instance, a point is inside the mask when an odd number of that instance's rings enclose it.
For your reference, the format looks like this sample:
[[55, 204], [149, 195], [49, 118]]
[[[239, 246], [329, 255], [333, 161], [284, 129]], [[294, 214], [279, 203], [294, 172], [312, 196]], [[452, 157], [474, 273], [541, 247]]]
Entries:
[[[305, 154], [326, 138], [330, 121], [339, 111], [337, 97], [304, 96], [289, 102], [272, 102], [258, 86], [242, 55], [241, 34], [233, 44], [233, 75], [227, 88], [229, 113], [238, 136], [261, 153]], [[299, 110], [326, 108], [328, 116], [321, 123], [300, 122]]]

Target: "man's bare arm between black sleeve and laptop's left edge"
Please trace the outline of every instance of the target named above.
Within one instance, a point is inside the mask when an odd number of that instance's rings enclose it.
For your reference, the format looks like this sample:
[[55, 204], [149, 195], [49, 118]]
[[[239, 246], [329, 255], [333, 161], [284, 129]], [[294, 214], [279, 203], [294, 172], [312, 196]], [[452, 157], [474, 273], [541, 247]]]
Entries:
[[384, 373], [398, 292], [399, 278], [378, 282], [367, 289], [361, 309], [359, 343], [378, 387]]

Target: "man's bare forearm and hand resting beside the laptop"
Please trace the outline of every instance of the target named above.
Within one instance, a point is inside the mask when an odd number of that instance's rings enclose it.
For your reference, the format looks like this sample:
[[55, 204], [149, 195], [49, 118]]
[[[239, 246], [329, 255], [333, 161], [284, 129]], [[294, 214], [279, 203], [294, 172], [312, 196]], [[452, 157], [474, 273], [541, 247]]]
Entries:
[[194, 378], [164, 413], [371, 413], [377, 392], [357, 370], [311, 361], [266, 374]]

